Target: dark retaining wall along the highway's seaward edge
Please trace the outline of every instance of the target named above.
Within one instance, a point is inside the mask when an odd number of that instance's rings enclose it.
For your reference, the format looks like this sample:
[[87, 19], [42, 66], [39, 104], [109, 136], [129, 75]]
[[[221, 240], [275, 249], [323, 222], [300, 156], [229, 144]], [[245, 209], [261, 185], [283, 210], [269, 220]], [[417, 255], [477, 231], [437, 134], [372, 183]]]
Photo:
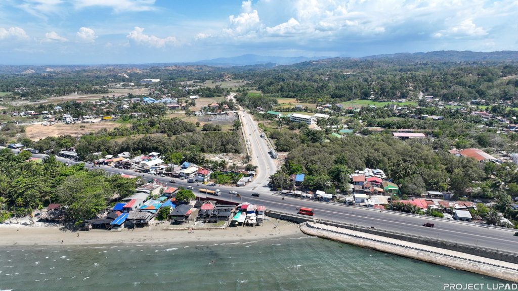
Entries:
[[497, 259], [497, 260], [507, 261], [508, 263], [518, 264], [518, 253], [516, 253], [516, 252], [509, 252], [509, 251], [503, 251], [503, 250], [498, 250], [498, 249], [485, 248], [483, 246], [478, 246], [478, 245], [473, 245], [473, 244], [450, 242], [450, 241], [441, 240], [438, 238], [416, 236], [416, 235], [412, 235], [412, 234], [407, 234], [405, 232], [397, 232], [397, 231], [392, 231], [392, 230], [370, 228], [370, 227], [366, 227], [366, 226], [359, 226], [359, 225], [353, 225], [353, 224], [335, 222], [335, 221], [329, 221], [329, 220], [313, 219], [311, 216], [307, 216], [307, 215], [299, 215], [299, 214], [292, 214], [292, 213], [272, 211], [272, 210], [268, 210], [266, 212], [266, 214], [273, 218], [294, 221], [297, 223], [315, 222], [315, 223], [320, 223], [320, 224], [324, 224], [324, 225], [342, 227], [342, 228], [347, 228], [347, 229], [351, 229], [351, 230], [367, 232], [368, 234], [372, 234], [372, 235], [378, 235], [378, 236], [382, 236], [382, 237], [388, 237], [388, 238], [399, 239], [399, 240], [404, 240], [404, 241], [408, 241], [408, 242], [435, 246], [436, 248], [447, 249], [447, 250], [451, 250], [451, 251], [458, 251], [458, 252], [467, 253], [467, 254], [471, 254], [471, 255], [493, 258], [493, 259]]

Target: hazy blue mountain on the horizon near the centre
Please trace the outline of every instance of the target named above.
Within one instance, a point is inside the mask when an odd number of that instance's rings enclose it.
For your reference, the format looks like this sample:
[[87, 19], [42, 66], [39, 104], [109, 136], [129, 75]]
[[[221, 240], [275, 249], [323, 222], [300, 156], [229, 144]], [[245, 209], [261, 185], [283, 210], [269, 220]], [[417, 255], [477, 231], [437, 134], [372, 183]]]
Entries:
[[243, 54], [232, 57], [218, 57], [217, 59], [203, 60], [195, 62], [196, 64], [204, 64], [208, 66], [247, 66], [258, 64], [276, 64], [276, 65], [291, 65], [306, 61], [314, 61], [326, 59], [326, 56], [306, 57], [306, 56], [264, 56], [257, 54]]

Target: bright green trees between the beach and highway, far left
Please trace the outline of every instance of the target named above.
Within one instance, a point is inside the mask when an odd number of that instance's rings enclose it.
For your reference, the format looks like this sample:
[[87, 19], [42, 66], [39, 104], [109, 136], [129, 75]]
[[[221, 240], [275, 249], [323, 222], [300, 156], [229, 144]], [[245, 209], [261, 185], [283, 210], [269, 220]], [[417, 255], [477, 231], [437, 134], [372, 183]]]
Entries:
[[[88, 171], [84, 164], [67, 167], [50, 156], [42, 163], [27, 162], [29, 152], [0, 151], [0, 222], [31, 215], [49, 203], [62, 203], [66, 219], [92, 219], [106, 210], [114, 197], [134, 193], [136, 179]], [[114, 202], [114, 201], [113, 201]]]

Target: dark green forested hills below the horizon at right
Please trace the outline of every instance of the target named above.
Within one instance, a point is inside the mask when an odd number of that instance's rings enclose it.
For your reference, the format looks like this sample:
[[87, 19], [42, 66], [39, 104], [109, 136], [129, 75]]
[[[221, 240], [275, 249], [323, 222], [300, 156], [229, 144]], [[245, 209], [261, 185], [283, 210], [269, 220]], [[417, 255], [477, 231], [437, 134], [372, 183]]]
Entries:
[[311, 102], [416, 97], [444, 101], [518, 99], [518, 65], [509, 62], [406, 62], [335, 59], [249, 72], [257, 90]]

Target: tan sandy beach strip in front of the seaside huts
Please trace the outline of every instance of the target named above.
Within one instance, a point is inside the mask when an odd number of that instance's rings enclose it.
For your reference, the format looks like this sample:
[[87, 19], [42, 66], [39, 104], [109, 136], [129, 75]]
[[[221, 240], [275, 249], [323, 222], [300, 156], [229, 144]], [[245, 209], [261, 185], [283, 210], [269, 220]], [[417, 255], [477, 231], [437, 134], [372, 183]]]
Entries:
[[[277, 228], [275, 225], [278, 224]], [[228, 227], [227, 229], [163, 230], [168, 224], [151, 225], [135, 230], [65, 231], [59, 227], [0, 225], [1, 246], [25, 245], [103, 245], [132, 243], [238, 242], [303, 235], [299, 225], [271, 219], [262, 226]], [[78, 236], [79, 234], [79, 236]], [[63, 243], [62, 243], [63, 242]]]

